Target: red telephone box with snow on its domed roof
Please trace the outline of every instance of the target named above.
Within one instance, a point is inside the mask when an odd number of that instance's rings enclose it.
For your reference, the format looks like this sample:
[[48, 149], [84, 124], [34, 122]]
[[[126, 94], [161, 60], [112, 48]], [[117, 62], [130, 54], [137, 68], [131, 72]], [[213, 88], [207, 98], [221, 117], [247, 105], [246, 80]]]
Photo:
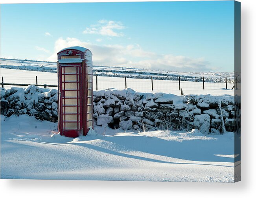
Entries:
[[77, 137], [93, 128], [92, 53], [84, 47], [68, 47], [58, 54], [58, 130]]

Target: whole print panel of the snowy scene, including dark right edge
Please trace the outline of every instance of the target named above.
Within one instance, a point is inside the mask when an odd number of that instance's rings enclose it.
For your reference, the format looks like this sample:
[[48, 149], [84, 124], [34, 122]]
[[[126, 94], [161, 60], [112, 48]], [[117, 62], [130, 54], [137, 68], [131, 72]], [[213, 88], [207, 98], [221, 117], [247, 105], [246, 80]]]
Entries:
[[1, 16], [1, 178], [240, 180], [239, 2]]

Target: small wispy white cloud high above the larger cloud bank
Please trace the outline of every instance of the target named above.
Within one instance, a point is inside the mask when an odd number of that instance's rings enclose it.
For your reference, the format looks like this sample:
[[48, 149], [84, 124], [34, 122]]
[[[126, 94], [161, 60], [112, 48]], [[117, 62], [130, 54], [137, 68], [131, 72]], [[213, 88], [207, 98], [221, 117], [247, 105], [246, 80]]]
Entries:
[[122, 32], [116, 30], [124, 29], [125, 26], [122, 22], [99, 20], [98, 24], [90, 25], [87, 27], [83, 34], [96, 34], [103, 36], [123, 36]]

